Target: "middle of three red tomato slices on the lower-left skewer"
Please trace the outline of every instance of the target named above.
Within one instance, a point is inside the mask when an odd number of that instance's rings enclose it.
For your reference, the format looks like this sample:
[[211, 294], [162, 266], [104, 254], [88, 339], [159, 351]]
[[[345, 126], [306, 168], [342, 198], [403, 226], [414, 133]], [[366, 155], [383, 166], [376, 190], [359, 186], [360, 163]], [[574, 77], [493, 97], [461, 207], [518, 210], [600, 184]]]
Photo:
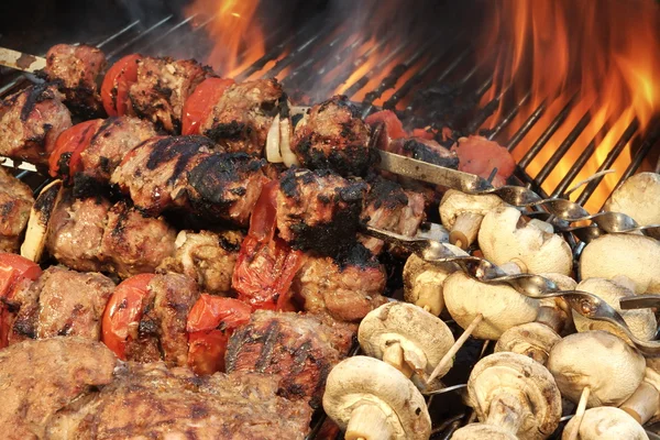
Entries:
[[106, 305], [101, 321], [101, 340], [121, 360], [125, 360], [127, 342], [131, 330], [142, 319], [143, 301], [154, 274], [140, 274], [127, 278], [114, 288]]

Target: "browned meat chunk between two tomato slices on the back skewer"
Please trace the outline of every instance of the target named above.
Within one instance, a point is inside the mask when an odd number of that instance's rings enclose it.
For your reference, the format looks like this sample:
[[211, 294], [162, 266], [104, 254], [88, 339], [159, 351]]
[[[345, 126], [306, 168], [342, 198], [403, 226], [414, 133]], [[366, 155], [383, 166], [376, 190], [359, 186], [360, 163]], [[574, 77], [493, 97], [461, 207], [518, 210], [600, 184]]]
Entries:
[[145, 56], [138, 62], [138, 81], [131, 86], [129, 114], [168, 133], [182, 132], [184, 103], [210, 69], [194, 59]]

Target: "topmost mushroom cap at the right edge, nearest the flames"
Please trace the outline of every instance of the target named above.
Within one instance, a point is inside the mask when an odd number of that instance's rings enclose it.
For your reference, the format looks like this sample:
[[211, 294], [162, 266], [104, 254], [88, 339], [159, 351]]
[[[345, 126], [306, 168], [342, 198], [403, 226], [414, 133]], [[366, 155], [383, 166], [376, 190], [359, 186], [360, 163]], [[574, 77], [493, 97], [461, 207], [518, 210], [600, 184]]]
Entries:
[[639, 173], [630, 176], [612, 193], [603, 207], [606, 211], [623, 212], [640, 226], [660, 224], [660, 174]]

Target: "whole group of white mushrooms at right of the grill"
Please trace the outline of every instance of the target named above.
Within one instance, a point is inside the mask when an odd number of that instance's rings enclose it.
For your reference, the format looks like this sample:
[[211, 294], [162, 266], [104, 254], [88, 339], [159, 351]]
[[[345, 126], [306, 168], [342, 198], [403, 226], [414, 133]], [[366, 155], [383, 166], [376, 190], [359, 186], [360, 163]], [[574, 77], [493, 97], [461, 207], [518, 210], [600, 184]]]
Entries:
[[[649, 198], [650, 197], [650, 198]], [[629, 178], [607, 207], [638, 224], [660, 223], [660, 177]], [[593, 294], [620, 314], [640, 340], [658, 329], [650, 309], [623, 310], [619, 300], [660, 293], [660, 242], [644, 234], [605, 234], [584, 246], [580, 283], [573, 253], [549, 223], [526, 219], [493, 195], [448, 190], [440, 204], [455, 256], [479, 250], [506, 274], [529, 273], [561, 290]], [[323, 407], [349, 440], [428, 439], [422, 393], [439, 378], [469, 337], [496, 341], [466, 384], [477, 422], [453, 439], [546, 439], [562, 407], [576, 405], [562, 439], [647, 439], [642, 425], [660, 419], [660, 359], [646, 359], [616, 326], [588, 319], [561, 297], [537, 299], [506, 284], [484, 283], [455, 263], [413, 254], [404, 268], [404, 299], [370, 312], [358, 339], [364, 355], [329, 374]], [[440, 318], [455, 321], [454, 340]]]

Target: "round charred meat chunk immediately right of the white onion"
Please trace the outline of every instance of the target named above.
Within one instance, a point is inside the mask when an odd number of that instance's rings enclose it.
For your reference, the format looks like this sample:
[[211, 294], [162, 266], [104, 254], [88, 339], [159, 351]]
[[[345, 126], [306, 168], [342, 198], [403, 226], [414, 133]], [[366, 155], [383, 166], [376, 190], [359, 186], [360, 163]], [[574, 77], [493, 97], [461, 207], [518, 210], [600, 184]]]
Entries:
[[317, 103], [298, 122], [293, 151], [310, 169], [332, 169], [362, 176], [374, 162], [369, 150], [370, 128], [345, 96]]

